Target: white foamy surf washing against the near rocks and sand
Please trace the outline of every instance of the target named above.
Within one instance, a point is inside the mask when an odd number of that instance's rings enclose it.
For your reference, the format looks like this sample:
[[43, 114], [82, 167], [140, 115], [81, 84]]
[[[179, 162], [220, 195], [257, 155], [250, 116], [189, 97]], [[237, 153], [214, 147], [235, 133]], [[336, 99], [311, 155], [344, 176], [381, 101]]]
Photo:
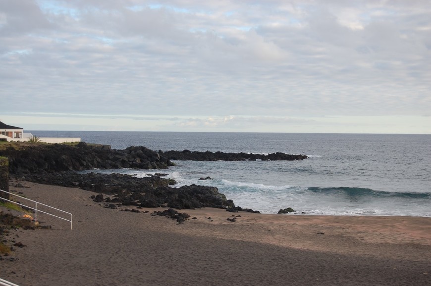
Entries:
[[[326, 192], [315, 192], [308, 188], [292, 185], [272, 186], [259, 183], [244, 183], [240, 181], [215, 179], [199, 180], [205, 177], [203, 173], [211, 173], [189, 168], [168, 170], [94, 170], [98, 173], [126, 173], [136, 177], [146, 177], [155, 173], [165, 173], [166, 179], [177, 182], [173, 187], [188, 186], [192, 184], [216, 187], [220, 193], [224, 193], [227, 199], [232, 199], [237, 206], [259, 210], [262, 213], [276, 214], [279, 209], [292, 207], [298, 212], [310, 215], [409, 215], [431, 217], [429, 204], [427, 202], [416, 204], [415, 208], [406, 205], [408, 199], [369, 200], [367, 197], [352, 199], [342, 194], [328, 194]], [[220, 176], [222, 177], [222, 176]], [[241, 179], [238, 179], [241, 180]], [[244, 179], [247, 181], [247, 179]]]

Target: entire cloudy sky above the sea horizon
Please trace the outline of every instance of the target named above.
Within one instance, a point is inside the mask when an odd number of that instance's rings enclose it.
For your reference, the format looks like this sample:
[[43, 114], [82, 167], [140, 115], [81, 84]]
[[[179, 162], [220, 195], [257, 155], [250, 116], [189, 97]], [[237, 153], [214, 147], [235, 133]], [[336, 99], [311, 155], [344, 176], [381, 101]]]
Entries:
[[429, 0], [0, 0], [27, 130], [431, 134]]

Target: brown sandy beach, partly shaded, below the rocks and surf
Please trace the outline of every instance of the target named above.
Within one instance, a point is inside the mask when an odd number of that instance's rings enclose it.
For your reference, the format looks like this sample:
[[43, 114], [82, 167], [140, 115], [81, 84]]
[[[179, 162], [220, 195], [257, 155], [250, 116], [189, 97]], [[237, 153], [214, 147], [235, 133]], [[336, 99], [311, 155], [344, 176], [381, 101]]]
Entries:
[[[17, 230], [0, 278], [58, 285], [431, 285], [431, 218], [108, 209], [96, 193], [23, 182], [10, 190], [73, 214]], [[8, 210], [2, 209], [4, 212]], [[228, 221], [235, 217], [235, 222]], [[196, 219], [192, 219], [196, 218]]]

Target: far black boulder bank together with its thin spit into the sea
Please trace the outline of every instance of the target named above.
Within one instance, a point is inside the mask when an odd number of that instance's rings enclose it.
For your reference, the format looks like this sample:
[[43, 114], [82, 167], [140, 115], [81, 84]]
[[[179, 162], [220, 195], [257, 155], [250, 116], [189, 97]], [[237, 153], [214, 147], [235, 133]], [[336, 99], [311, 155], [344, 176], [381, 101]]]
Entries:
[[263, 154], [166, 151], [159, 152], [143, 146], [130, 146], [124, 150], [108, 145], [31, 144], [15, 143], [0, 149], [0, 156], [9, 158], [9, 173], [28, 174], [41, 172], [81, 171], [99, 169], [166, 169], [174, 164], [170, 160], [241, 161], [241, 160], [303, 160], [306, 155], [281, 152]]

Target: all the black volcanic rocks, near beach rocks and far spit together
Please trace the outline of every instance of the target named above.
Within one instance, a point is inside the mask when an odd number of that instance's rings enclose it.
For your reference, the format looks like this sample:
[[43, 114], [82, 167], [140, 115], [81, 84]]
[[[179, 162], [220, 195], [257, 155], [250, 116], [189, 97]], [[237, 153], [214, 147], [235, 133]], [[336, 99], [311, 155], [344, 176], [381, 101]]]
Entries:
[[[45, 185], [81, 188], [98, 192], [93, 199], [105, 207], [120, 205], [135, 207], [169, 207], [195, 209], [223, 208], [230, 212], [249, 211], [235, 206], [215, 187], [173, 187], [176, 182], [162, 178], [163, 174], [137, 178], [124, 174], [96, 174], [79, 172], [99, 169], [166, 169], [174, 166], [170, 160], [302, 160], [305, 155], [272, 153], [269, 155], [223, 152], [166, 151], [158, 152], [143, 146], [124, 150], [108, 145], [76, 145], [22, 143], [0, 149], [0, 156], [9, 158], [11, 178]], [[19, 183], [17, 183], [19, 184]], [[19, 186], [17, 186], [19, 187]]]

